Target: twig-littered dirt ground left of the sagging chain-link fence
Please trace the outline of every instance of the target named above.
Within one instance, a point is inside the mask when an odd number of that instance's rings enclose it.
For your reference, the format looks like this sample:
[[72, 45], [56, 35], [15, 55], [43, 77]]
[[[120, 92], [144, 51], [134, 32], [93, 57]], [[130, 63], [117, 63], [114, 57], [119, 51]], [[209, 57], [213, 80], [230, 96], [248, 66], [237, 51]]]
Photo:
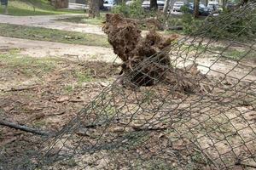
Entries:
[[[104, 61], [30, 58], [12, 50], [0, 52], [0, 114], [32, 127], [57, 131], [119, 73]], [[26, 134], [7, 127], [0, 131], [1, 146], [22, 141]]]

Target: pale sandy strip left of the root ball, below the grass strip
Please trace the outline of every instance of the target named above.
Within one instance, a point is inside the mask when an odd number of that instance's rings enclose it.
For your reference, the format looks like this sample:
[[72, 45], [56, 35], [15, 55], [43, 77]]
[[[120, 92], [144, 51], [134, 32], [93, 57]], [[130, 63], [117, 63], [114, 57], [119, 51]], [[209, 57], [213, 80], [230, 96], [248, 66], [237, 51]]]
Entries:
[[113, 62], [116, 59], [112, 48], [0, 37], [0, 50], [3, 51], [9, 48], [20, 48], [20, 54], [31, 57], [54, 56], [76, 60], [102, 60], [105, 62]]

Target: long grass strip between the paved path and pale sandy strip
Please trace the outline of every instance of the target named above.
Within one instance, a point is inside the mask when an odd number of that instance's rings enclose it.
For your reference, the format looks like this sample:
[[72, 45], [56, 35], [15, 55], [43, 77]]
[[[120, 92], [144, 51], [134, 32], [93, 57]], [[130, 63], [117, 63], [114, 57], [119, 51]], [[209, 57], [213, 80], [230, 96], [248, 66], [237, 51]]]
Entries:
[[0, 24], [0, 36], [17, 37], [38, 41], [63, 42], [90, 46], [110, 47], [107, 36], [74, 31]]

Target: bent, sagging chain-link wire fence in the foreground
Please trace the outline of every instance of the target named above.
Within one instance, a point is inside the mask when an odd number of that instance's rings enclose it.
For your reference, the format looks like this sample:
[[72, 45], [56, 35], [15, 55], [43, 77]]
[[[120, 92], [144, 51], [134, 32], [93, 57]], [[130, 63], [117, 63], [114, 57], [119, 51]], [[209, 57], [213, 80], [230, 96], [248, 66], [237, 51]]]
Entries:
[[[149, 87], [113, 82], [55, 137], [4, 169], [255, 169], [256, 68], [248, 61], [256, 57], [255, 7], [207, 20], [156, 54], [170, 50], [168, 81], [161, 74]], [[162, 66], [154, 55], [127, 81], [150, 77], [143, 67], [152, 63]], [[190, 82], [194, 88], [180, 90]]]

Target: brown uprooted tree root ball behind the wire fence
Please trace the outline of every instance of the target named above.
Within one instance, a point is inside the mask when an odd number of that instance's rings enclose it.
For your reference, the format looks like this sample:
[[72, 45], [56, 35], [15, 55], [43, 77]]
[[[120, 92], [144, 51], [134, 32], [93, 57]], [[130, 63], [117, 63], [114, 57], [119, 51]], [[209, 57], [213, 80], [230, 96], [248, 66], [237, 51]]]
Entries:
[[159, 81], [178, 81], [181, 91], [195, 88], [195, 81], [189, 78], [193, 76], [190, 71], [172, 68], [169, 47], [177, 39], [177, 35], [164, 37], [155, 31], [149, 31], [143, 37], [137, 23], [123, 18], [120, 14], [107, 14], [102, 30], [108, 34], [108, 42], [113, 46], [113, 52], [123, 61], [120, 82], [152, 86]]

